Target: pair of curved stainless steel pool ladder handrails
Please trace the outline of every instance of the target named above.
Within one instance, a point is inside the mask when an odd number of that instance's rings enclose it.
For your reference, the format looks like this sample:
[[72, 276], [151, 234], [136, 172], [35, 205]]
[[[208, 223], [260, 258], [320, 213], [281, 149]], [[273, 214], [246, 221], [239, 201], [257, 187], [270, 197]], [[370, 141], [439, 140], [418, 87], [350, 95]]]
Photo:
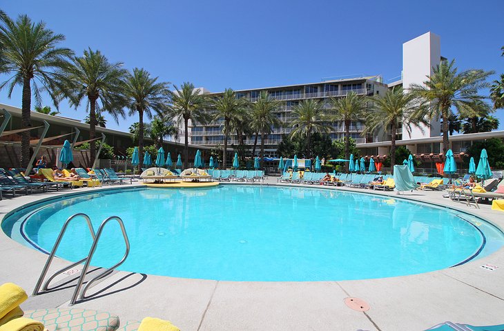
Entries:
[[[84, 257], [84, 259], [81, 259], [75, 263], [71, 263], [70, 265], [67, 265], [65, 268], [61, 268], [61, 269], [57, 270], [54, 274], [52, 274], [47, 279], [47, 281], [45, 283], [43, 283], [43, 280], [46, 278], [46, 275], [49, 270], [52, 259], [54, 259], [54, 257], [55, 257], [56, 251], [59, 247], [59, 243], [61, 242], [61, 239], [63, 239], [64, 234], [66, 232], [66, 229], [68, 228], [68, 225], [70, 224], [70, 222], [72, 220], [76, 219], [77, 217], [83, 217], [86, 220], [86, 223], [88, 223], [89, 232], [91, 234], [91, 237], [93, 238], [93, 244], [91, 245], [88, 256]], [[119, 223], [119, 226], [121, 227], [122, 236], [124, 237], [124, 243], [126, 244], [126, 252], [124, 252], [124, 256], [122, 257], [121, 261], [119, 261], [118, 263], [116, 263], [112, 267], [104, 270], [104, 272], [97, 274], [95, 277], [93, 277], [93, 279], [90, 279], [90, 281], [88, 281], [86, 283], [84, 288], [82, 288], [82, 285], [84, 283], [84, 278], [86, 277], [86, 274], [88, 272], [88, 268], [91, 263], [91, 259], [93, 259], [93, 254], [95, 254], [95, 250], [97, 248], [98, 241], [101, 237], [101, 233], [103, 232], [105, 225], [109, 221], [112, 221], [112, 220], [117, 221], [117, 223]], [[128, 257], [129, 252], [130, 252], [130, 241], [128, 239], [128, 234], [126, 234], [126, 228], [124, 228], [124, 223], [123, 223], [122, 219], [120, 219], [117, 216], [108, 217], [107, 219], [105, 219], [105, 221], [103, 221], [101, 223], [101, 225], [99, 225], [98, 231], [95, 234], [95, 230], [93, 229], [93, 224], [91, 224], [91, 220], [88, 217], [88, 215], [81, 213], [81, 212], [79, 212], [78, 214], [73, 214], [72, 216], [68, 217], [68, 219], [65, 221], [63, 227], [61, 228], [61, 231], [59, 232], [58, 238], [56, 239], [55, 245], [49, 254], [49, 257], [46, 261], [46, 265], [44, 265], [44, 267], [42, 269], [42, 272], [39, 277], [39, 281], [37, 281], [37, 285], [35, 285], [35, 289], [33, 290], [32, 294], [37, 295], [37, 294], [42, 294], [43, 292], [47, 292], [50, 282], [52, 281], [52, 279], [55, 279], [55, 277], [57, 277], [57, 275], [61, 274], [62, 272], [65, 272], [66, 270], [69, 270], [70, 268], [75, 267], [76, 265], [79, 265], [79, 264], [85, 262], [84, 268], [82, 269], [81, 275], [79, 276], [79, 279], [77, 281], [77, 285], [75, 286], [75, 290], [73, 292], [72, 299], [70, 299], [70, 305], [74, 305], [77, 302], [77, 300], [84, 299], [84, 295], [86, 294], [86, 291], [88, 290], [88, 288], [90, 288], [91, 284], [93, 284], [98, 279], [102, 279], [102, 278], [108, 276], [109, 274], [111, 274], [115, 270], [115, 268], [117, 268], [119, 265], [122, 265], [122, 263], [126, 260], [126, 257]], [[43, 285], [42, 285], [42, 283], [43, 283]], [[42, 290], [40, 290], [41, 288], [42, 288]], [[81, 290], [81, 288], [82, 288], [82, 290]]]

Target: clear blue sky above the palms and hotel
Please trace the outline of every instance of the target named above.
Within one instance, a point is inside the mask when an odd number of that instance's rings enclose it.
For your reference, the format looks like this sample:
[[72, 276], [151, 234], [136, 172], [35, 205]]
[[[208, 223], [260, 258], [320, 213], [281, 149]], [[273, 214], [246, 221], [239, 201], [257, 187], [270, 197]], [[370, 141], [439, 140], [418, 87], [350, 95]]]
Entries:
[[[400, 75], [402, 45], [432, 31], [459, 69], [504, 72], [504, 3], [481, 1], [4, 1], [66, 35], [81, 54], [98, 49], [128, 69], [218, 92], [320, 81], [349, 74]], [[496, 79], [497, 74], [492, 77]], [[3, 78], [3, 77], [0, 77]], [[2, 79], [3, 80], [3, 79]], [[21, 106], [21, 88], [0, 102]], [[44, 105], [50, 106], [45, 98]], [[61, 115], [86, 117], [61, 106]], [[504, 111], [497, 113], [504, 130]], [[107, 126], [128, 130], [135, 118]]]

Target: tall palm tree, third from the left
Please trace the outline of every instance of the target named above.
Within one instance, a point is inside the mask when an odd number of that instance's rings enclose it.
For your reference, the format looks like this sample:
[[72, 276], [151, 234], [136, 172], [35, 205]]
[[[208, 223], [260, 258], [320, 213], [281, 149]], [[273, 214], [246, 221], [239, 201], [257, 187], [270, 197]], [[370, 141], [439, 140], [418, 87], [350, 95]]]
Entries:
[[[168, 83], [157, 82], [145, 69], [134, 68], [128, 73], [124, 95], [128, 100], [129, 115], [138, 113], [138, 152], [144, 155], [144, 114], [148, 119], [153, 111], [163, 114], [168, 109]], [[140, 169], [140, 164], [138, 168]]]

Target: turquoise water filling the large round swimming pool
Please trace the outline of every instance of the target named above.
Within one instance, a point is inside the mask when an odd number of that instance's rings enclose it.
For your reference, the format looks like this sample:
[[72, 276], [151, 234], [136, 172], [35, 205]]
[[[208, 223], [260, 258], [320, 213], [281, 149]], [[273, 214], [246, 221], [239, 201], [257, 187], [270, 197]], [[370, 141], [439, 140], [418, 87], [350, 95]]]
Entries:
[[[46, 203], [47, 205], [47, 203]], [[35, 205], [2, 223], [26, 245], [50, 250], [70, 215], [98, 228], [121, 217], [130, 256], [119, 268], [230, 281], [334, 281], [417, 274], [490, 254], [503, 245], [493, 225], [424, 203], [318, 188], [220, 185], [209, 189], [110, 190]], [[92, 265], [124, 254], [110, 223]], [[31, 242], [31, 243], [29, 243]], [[91, 245], [84, 220], [57, 255], [71, 261]]]

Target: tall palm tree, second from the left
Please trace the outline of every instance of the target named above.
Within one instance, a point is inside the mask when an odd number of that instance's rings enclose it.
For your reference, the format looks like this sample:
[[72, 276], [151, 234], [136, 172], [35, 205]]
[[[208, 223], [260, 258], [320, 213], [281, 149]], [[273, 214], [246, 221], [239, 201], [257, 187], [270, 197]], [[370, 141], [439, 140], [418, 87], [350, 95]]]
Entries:
[[[64, 72], [64, 88], [61, 93], [77, 107], [82, 99], [89, 105], [89, 139], [95, 139], [97, 112], [108, 112], [115, 121], [124, 117], [126, 89], [124, 79], [128, 72], [121, 68], [122, 63], [110, 63], [99, 50], [84, 50], [82, 57], [72, 57], [72, 66]], [[90, 162], [96, 157], [96, 141], [90, 141]]]

